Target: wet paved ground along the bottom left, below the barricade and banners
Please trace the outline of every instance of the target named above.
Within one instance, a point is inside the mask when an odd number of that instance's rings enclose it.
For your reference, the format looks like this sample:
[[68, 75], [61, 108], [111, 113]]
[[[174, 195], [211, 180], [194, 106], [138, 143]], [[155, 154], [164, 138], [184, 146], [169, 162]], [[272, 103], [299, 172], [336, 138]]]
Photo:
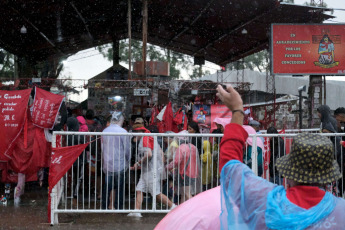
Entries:
[[[3, 185], [0, 185], [3, 187]], [[3, 191], [0, 191], [3, 194]], [[153, 229], [165, 214], [143, 214], [130, 218], [127, 214], [59, 214], [59, 225], [47, 223], [47, 189], [27, 185], [22, 201], [13, 200], [0, 206], [0, 229]]]

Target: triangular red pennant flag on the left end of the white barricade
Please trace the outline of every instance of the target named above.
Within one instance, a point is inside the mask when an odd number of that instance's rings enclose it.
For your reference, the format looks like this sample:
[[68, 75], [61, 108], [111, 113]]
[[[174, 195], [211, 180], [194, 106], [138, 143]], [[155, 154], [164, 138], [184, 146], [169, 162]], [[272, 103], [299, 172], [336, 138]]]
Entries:
[[49, 189], [53, 189], [57, 182], [72, 167], [79, 155], [89, 143], [52, 149], [49, 169]]

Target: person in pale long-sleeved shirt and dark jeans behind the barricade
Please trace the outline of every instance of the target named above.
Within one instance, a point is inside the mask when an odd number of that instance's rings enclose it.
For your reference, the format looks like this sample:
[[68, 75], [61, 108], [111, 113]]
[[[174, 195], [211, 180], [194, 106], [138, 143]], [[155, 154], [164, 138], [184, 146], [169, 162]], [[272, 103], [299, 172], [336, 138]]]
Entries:
[[[122, 128], [123, 121], [122, 112], [113, 112], [110, 125], [103, 130], [103, 133], [127, 133]], [[115, 209], [123, 209], [124, 178], [129, 167], [130, 146], [129, 136], [102, 136], [103, 172], [105, 174], [102, 195], [103, 209], [113, 209], [114, 205]]]

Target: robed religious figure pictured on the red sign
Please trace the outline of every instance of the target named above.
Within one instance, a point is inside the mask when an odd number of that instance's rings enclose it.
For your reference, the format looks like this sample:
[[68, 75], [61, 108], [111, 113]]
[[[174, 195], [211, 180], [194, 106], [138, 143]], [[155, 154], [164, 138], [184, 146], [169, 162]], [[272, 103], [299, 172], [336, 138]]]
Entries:
[[323, 35], [319, 44], [318, 53], [320, 54], [319, 61], [314, 62], [316, 66], [332, 68], [339, 65], [339, 62], [334, 61], [334, 43], [328, 34]]

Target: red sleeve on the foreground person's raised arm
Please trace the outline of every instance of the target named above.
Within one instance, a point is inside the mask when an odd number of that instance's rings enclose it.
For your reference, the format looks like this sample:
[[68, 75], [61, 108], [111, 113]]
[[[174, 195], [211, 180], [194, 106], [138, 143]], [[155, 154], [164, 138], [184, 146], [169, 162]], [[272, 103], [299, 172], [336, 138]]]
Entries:
[[243, 162], [243, 146], [247, 140], [248, 133], [242, 126], [230, 123], [225, 126], [224, 137], [220, 142], [219, 171], [231, 160]]

